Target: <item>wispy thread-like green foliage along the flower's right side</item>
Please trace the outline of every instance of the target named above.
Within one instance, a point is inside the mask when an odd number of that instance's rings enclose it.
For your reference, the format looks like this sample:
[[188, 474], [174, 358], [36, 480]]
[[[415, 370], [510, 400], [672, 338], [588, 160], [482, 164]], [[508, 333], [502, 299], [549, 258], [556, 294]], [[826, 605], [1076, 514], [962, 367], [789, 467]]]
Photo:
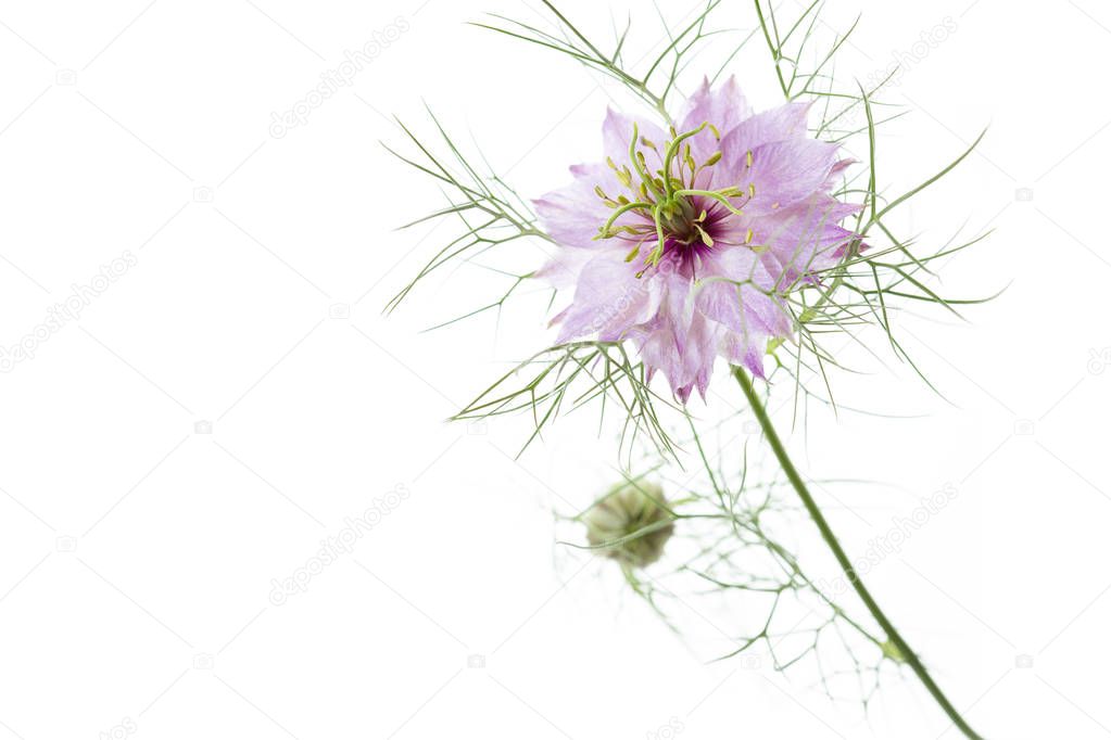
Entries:
[[[827, 373], [829, 367], [840, 367], [839, 351], [858, 344], [873, 354], [858, 337], [870, 326], [879, 327], [887, 336], [895, 356], [908, 363], [928, 384], [929, 379], [914, 363], [897, 334], [894, 315], [902, 306], [933, 304], [950, 315], [961, 317], [959, 306], [983, 303], [994, 296], [945, 296], [931, 283], [937, 277], [933, 263], [968, 249], [987, 234], [949, 243], [933, 251], [922, 251], [915, 239], [897, 235], [892, 224], [902, 210], [925, 189], [948, 175], [979, 145], [983, 133], [954, 160], [928, 176], [920, 185], [894, 197], [889, 197], [880, 185], [877, 131], [905, 114], [898, 107], [881, 100], [884, 87], [894, 74], [880, 80], [871, 89], [860, 83], [844, 85], [833, 74], [837, 54], [851, 44], [859, 18], [843, 32], [835, 33], [824, 47], [817, 40], [823, 2], [808, 6], [788, 23], [781, 22], [770, 0], [753, 0], [761, 36], [767, 44], [777, 80], [788, 101], [811, 102], [820, 119], [812, 123], [813, 132], [858, 150], [861, 162], [857, 174], [844, 182], [835, 195], [847, 202], [859, 203], [860, 213], [853, 226], [857, 239], [844, 245], [844, 259], [833, 267], [812, 271], [813, 280], [800, 281], [788, 286], [782, 305], [799, 332], [795, 345], [775, 343], [770, 353], [785, 352], [785, 358], [775, 357], [777, 364], [795, 379], [799, 395], [813, 395], [803, 388], [803, 371], [819, 377], [824, 385], [824, 397], [833, 403], [833, 389]], [[882, 113], [880, 111], [883, 111]], [[862, 120], [861, 120], [862, 119]], [[861, 176], [867, 182], [860, 183]], [[830, 341], [838, 342], [831, 347]], [[834, 405], [835, 407], [835, 405]]]

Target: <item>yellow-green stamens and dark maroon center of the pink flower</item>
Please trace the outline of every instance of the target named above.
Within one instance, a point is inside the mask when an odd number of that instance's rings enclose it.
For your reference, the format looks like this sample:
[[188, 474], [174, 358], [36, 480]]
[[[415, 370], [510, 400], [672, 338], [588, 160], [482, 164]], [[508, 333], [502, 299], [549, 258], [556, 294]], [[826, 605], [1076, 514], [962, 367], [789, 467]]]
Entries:
[[[730, 185], [720, 190], [699, 189], [698, 180], [704, 172], [711, 171], [721, 161], [721, 151], [715, 151], [702, 163], [694, 160], [688, 140], [703, 131], [713, 133], [714, 140], [721, 142], [721, 133], [711, 123], [703, 123], [697, 129], [678, 133], [671, 129], [671, 139], [661, 152], [653, 142], [641, 136], [633, 124], [632, 142], [629, 145], [628, 165], [619, 168], [613, 159], [607, 160], [617, 174], [618, 181], [630, 192], [631, 197], [620, 194], [611, 197], [601, 185], [594, 192], [613, 213], [599, 230], [595, 239], [621, 239], [633, 244], [632, 251], [625, 257], [632, 262], [640, 256], [644, 244], [654, 242], [652, 250], [644, 257], [642, 275], [649, 267], [659, 265], [665, 252], [674, 249], [690, 253], [692, 249], [713, 247], [714, 225], [725, 216], [725, 212], [741, 216], [748, 200], [755, 195], [755, 186], [748, 187]], [[659, 158], [661, 166], [651, 171], [644, 151], [650, 150]], [[748, 152], [745, 170], [752, 166], [752, 152]], [[740, 199], [737, 205], [731, 200]], [[639, 216], [633, 223], [617, 224], [618, 219], [627, 214]], [[747, 242], [751, 241], [751, 231]]]

